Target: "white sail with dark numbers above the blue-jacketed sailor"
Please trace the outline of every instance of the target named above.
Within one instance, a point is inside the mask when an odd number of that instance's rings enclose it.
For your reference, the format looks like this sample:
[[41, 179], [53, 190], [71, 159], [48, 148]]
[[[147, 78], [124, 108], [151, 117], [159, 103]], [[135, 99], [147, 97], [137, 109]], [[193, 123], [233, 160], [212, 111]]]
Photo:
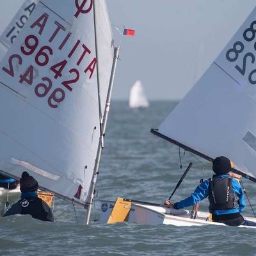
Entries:
[[159, 133], [211, 158], [227, 156], [256, 175], [256, 9]]

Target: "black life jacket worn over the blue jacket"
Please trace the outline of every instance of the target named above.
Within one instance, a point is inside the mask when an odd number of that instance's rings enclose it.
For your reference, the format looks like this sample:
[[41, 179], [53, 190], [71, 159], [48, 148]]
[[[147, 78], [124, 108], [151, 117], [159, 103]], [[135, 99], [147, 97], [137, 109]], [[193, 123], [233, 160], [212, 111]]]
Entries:
[[209, 212], [216, 210], [235, 209], [239, 204], [239, 197], [234, 194], [232, 177], [212, 177], [209, 179]]

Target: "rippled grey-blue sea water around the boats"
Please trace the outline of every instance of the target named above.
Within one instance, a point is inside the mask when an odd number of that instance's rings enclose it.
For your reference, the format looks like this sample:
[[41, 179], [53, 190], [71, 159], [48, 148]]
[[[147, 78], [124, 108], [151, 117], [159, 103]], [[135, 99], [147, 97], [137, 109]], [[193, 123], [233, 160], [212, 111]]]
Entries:
[[[90, 225], [83, 225], [83, 209], [55, 198], [54, 223], [31, 216], [0, 218], [0, 255], [256, 255], [255, 229], [99, 223], [100, 199], [120, 196], [163, 204], [190, 162], [193, 166], [172, 202], [190, 195], [200, 179], [211, 177], [203, 159], [150, 134], [176, 104], [159, 101], [150, 102], [149, 108], [129, 109], [128, 102], [114, 101]], [[256, 210], [256, 184], [243, 180]], [[9, 198], [18, 199], [19, 194]], [[6, 195], [0, 200], [3, 214]], [[246, 204], [244, 215], [253, 216], [247, 199]], [[200, 209], [207, 211], [207, 205], [204, 200]]]

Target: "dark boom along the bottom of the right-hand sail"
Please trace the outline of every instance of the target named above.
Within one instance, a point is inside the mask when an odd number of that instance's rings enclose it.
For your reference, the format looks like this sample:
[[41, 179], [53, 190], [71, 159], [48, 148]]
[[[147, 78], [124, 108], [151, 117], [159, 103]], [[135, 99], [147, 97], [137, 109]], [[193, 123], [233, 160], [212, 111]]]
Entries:
[[[187, 150], [193, 154], [196, 154], [197, 156], [200, 156], [204, 159], [206, 159], [207, 161], [213, 161], [214, 159], [212, 157], [209, 157], [209, 156], [206, 156], [205, 154], [202, 154], [201, 152], [198, 152], [196, 151], [195, 149], [193, 148], [190, 148], [182, 143], [180, 143], [179, 141], [176, 141], [176, 140], [173, 140], [172, 138], [169, 138], [167, 136], [164, 136], [163, 134], [161, 134], [160, 132], [158, 132], [158, 129], [151, 129], [150, 132], [156, 136], [159, 136], [160, 138], [163, 138], [164, 140], [166, 141], [169, 141], [170, 143], [173, 143], [181, 148], [184, 148], [184, 150]], [[244, 172], [241, 172], [239, 170], [236, 170], [235, 168], [231, 168], [232, 172], [234, 173], [237, 173], [239, 175], [241, 175], [242, 177], [244, 177], [245, 179], [248, 179], [248, 180], [252, 180], [253, 182], [256, 182], [256, 178], [255, 177], [252, 177]]]

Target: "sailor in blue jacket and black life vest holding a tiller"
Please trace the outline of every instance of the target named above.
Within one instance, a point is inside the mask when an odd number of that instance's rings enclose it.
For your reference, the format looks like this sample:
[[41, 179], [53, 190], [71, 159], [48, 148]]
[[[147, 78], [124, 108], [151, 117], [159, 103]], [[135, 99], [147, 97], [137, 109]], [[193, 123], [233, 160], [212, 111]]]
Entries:
[[195, 192], [188, 198], [171, 204], [166, 200], [166, 207], [182, 209], [195, 205], [208, 196], [209, 212], [212, 214], [212, 221], [225, 223], [230, 226], [239, 226], [244, 223], [240, 214], [245, 207], [243, 189], [237, 179], [231, 177], [231, 164], [227, 157], [216, 157], [212, 163], [212, 170], [215, 175], [198, 185]]

